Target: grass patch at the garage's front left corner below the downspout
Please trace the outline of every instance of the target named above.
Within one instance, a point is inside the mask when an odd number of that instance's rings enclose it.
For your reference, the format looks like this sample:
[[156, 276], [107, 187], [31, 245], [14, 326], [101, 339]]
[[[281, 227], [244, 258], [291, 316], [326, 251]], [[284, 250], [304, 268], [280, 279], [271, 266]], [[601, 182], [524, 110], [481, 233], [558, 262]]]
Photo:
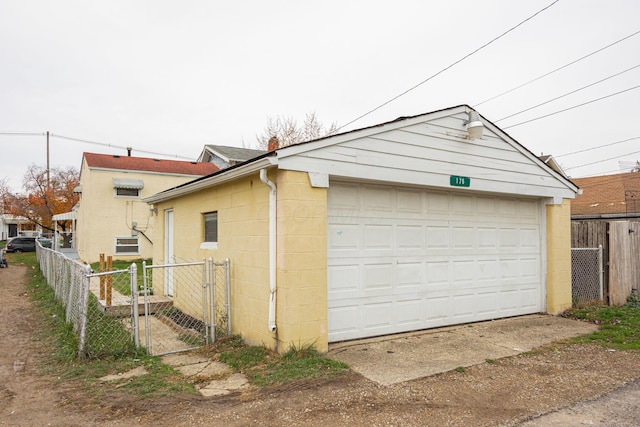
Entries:
[[203, 351], [235, 372], [246, 374], [259, 388], [298, 380], [329, 379], [349, 372], [347, 364], [329, 359], [310, 345], [292, 346], [286, 353], [277, 354], [264, 347], [247, 346], [235, 335], [223, 338]]

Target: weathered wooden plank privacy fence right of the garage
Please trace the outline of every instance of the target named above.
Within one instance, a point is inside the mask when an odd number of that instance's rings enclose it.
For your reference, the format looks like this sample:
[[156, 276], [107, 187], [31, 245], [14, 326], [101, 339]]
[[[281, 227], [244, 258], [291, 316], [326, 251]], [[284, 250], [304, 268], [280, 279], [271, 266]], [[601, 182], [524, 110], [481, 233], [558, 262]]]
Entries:
[[640, 286], [640, 221], [571, 221], [571, 247], [602, 245], [604, 295], [609, 305], [624, 305]]

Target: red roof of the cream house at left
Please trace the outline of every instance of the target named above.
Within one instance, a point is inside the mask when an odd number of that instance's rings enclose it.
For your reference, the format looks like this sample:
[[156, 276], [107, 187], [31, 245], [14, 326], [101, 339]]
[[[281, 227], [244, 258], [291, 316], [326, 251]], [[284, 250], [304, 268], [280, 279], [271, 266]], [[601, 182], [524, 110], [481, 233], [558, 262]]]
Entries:
[[213, 163], [206, 162], [186, 162], [96, 153], [84, 153], [83, 156], [90, 168], [197, 176], [209, 175], [219, 170]]

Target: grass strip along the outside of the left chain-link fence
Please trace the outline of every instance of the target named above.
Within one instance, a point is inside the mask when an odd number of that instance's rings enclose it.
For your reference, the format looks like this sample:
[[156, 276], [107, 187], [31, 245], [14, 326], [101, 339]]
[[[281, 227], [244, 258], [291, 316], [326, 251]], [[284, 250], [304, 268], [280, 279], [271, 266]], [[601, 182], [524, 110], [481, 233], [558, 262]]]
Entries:
[[[59, 381], [73, 381], [93, 398], [100, 398], [114, 389], [135, 396], [161, 397], [176, 394], [195, 394], [195, 388], [179, 372], [160, 362], [160, 358], [136, 352], [131, 343], [130, 333], [123, 329], [115, 318], [102, 316], [102, 319], [88, 322], [87, 348], [90, 351], [86, 359], [78, 359], [78, 338], [73, 327], [65, 322], [64, 308], [55, 300], [53, 290], [47, 285], [40, 273], [35, 254], [8, 254], [11, 264], [24, 264], [30, 268], [27, 289], [36, 306], [34, 311], [39, 347], [45, 357], [39, 360], [43, 373], [54, 375]], [[90, 310], [91, 313], [91, 310]], [[90, 314], [91, 316], [91, 314]], [[105, 342], [103, 346], [92, 344], [92, 334], [101, 333], [103, 328], [116, 328], [126, 334], [125, 339]], [[122, 344], [118, 344], [118, 342]], [[122, 381], [102, 382], [100, 377], [124, 373], [144, 366], [146, 375]]]

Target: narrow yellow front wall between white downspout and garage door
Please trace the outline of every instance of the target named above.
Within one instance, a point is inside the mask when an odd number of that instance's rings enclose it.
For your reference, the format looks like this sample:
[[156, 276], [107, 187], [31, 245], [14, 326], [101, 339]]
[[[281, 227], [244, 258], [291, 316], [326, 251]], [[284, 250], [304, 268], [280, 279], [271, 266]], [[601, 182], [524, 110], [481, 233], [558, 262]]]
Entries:
[[327, 189], [278, 173], [278, 346], [328, 350]]

